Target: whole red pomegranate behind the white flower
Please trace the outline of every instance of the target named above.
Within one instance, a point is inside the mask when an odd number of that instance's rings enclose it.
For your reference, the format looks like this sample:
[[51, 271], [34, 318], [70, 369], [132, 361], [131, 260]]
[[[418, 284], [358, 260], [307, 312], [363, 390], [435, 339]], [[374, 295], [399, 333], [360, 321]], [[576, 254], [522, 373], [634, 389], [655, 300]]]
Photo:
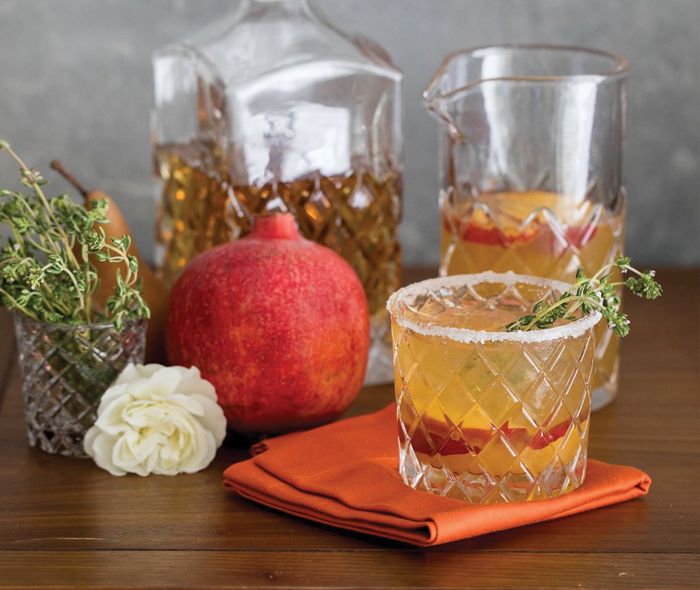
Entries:
[[362, 284], [291, 214], [190, 262], [170, 295], [168, 360], [199, 367], [229, 427], [276, 433], [334, 420], [362, 386], [369, 349]]

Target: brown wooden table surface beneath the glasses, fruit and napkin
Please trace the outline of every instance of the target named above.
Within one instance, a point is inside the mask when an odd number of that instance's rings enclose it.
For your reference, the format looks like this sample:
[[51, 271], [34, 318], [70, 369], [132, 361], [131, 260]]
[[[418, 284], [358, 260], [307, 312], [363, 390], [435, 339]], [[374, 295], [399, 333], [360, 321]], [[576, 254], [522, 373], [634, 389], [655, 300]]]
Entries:
[[[0, 586], [697, 588], [700, 584], [700, 272], [659, 273], [627, 299], [617, 401], [591, 456], [646, 470], [646, 498], [417, 549], [334, 530], [224, 491], [246, 456], [226, 443], [196, 475], [115, 478], [29, 449], [12, 330], [0, 315]], [[4, 392], [4, 394], [3, 394]], [[392, 399], [362, 391], [350, 413]]]

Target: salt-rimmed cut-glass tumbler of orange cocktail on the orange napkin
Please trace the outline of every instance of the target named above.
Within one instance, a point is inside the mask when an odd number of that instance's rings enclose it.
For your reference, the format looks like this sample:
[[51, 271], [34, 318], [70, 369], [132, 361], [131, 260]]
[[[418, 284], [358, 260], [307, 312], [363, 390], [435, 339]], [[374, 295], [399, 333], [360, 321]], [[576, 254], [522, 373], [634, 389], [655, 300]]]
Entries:
[[567, 287], [484, 272], [429, 279], [391, 296], [407, 485], [472, 504], [553, 498], [581, 485], [600, 314], [505, 330]]

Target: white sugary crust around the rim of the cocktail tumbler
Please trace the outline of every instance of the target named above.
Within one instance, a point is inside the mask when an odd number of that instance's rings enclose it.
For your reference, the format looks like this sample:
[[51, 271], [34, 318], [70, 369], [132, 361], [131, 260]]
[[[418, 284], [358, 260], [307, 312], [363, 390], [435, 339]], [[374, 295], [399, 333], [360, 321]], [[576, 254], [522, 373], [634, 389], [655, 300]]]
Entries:
[[489, 332], [485, 330], [470, 330], [468, 328], [450, 328], [438, 326], [431, 322], [417, 322], [406, 319], [397, 309], [398, 303], [406, 297], [415, 297], [428, 291], [440, 289], [441, 287], [458, 288], [465, 285], [478, 285], [480, 283], [501, 283], [506, 286], [524, 283], [527, 285], [538, 285], [541, 287], [551, 287], [559, 292], [570, 287], [569, 284], [554, 279], [544, 279], [529, 275], [519, 275], [514, 272], [481, 272], [470, 275], [453, 275], [449, 277], [439, 277], [427, 279], [418, 283], [413, 283], [394, 292], [386, 302], [386, 308], [396, 323], [404, 329], [411, 330], [423, 336], [436, 336], [449, 338], [456, 342], [548, 342], [566, 338], [578, 338], [587, 330], [590, 330], [601, 319], [599, 312], [594, 311], [581, 319], [554, 328], [544, 328], [532, 331], [517, 332]]

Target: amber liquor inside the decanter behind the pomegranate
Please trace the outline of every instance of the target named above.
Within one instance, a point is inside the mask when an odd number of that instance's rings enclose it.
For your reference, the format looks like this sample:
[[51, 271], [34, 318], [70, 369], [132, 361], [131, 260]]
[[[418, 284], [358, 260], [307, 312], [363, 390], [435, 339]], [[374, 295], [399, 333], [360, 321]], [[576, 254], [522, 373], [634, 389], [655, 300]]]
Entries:
[[156, 240], [166, 284], [172, 285], [197, 254], [245, 236], [255, 215], [290, 211], [306, 238], [350, 263], [365, 288], [370, 314], [383, 320], [386, 300], [401, 283], [398, 168], [381, 177], [358, 165], [331, 176], [237, 184], [224, 153], [209, 142], [161, 144], [155, 160], [163, 179]]

